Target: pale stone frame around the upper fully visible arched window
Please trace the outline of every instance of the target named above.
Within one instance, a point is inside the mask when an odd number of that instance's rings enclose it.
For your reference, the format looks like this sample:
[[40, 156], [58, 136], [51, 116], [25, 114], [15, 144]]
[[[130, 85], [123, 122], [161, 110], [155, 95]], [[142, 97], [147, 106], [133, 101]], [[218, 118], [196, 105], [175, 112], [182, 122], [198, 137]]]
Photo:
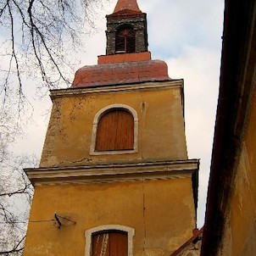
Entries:
[[[111, 151], [96, 151], [96, 139], [97, 139], [97, 125], [100, 118], [105, 114], [107, 111], [111, 109], [124, 109], [130, 112], [133, 116], [134, 120], [134, 145], [133, 149], [131, 150], [111, 150]], [[94, 116], [93, 124], [92, 124], [92, 143], [90, 154], [91, 155], [103, 155], [103, 154], [125, 154], [125, 153], [136, 153], [137, 152], [137, 136], [138, 136], [138, 117], [135, 109], [132, 109], [130, 106], [124, 104], [112, 104], [103, 109], [100, 109], [97, 114]]]

